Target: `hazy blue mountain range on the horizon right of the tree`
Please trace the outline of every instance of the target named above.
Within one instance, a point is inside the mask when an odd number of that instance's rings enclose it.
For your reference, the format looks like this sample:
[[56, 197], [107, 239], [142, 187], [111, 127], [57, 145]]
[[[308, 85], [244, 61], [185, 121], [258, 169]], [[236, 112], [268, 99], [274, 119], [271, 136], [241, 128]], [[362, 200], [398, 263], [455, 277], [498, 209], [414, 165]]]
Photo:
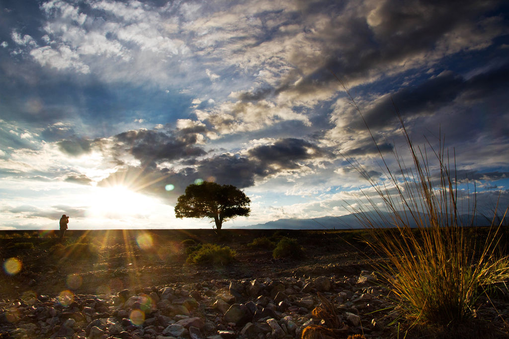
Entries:
[[[404, 213], [404, 212], [401, 212]], [[391, 220], [389, 213], [383, 213], [386, 220]], [[360, 229], [364, 228], [364, 225], [360, 223], [357, 219], [359, 217], [358, 213], [346, 214], [341, 217], [321, 217], [321, 218], [313, 218], [313, 219], [279, 219], [275, 221], [269, 221], [265, 224], [256, 224], [250, 226], [244, 226], [242, 228], [252, 228], [252, 229], [292, 229], [292, 230], [323, 230], [323, 229]], [[410, 214], [408, 215], [408, 219], [412, 221], [410, 218]], [[392, 227], [393, 225], [386, 225], [383, 223], [382, 218], [376, 214], [370, 214], [370, 218], [374, 224], [379, 227]], [[425, 214], [420, 213], [420, 218], [423, 220], [427, 219]], [[362, 216], [359, 218], [362, 220]], [[461, 215], [460, 219], [463, 221], [463, 224], [468, 224], [468, 220], [470, 220], [470, 216], [468, 214]], [[475, 220], [475, 225], [477, 226], [488, 226], [487, 221], [484, 217], [477, 216]], [[410, 222], [410, 227], [417, 227], [417, 225], [412, 221]]]

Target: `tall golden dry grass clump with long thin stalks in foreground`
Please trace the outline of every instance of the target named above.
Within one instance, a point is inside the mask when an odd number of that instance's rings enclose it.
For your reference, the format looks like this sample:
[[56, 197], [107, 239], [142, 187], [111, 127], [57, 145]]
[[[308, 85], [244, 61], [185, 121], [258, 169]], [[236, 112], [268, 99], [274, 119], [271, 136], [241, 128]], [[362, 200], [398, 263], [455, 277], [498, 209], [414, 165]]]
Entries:
[[[467, 236], [472, 233], [465, 232], [465, 227], [475, 226], [475, 193], [466, 197], [470, 219], [465, 222], [461, 218], [465, 210], [460, 206], [456, 165], [451, 164], [455, 158], [450, 159], [442, 139], [438, 149], [430, 143], [416, 147], [397, 113], [413, 163], [407, 166], [394, 152], [396, 166], [389, 169], [372, 135], [386, 180], [376, 182], [358, 162], [349, 162], [369, 181], [383, 207], [364, 193], [371, 211], [362, 207], [351, 210], [360, 213], [360, 222], [370, 231], [371, 239], [366, 242], [379, 256], [387, 258], [386, 265], [376, 268], [402, 301], [407, 315], [416, 322], [458, 324], [472, 315], [474, 303], [487, 289], [509, 278], [509, 257], [500, 256], [497, 250], [502, 222], [493, 219], [480, 245]], [[504, 217], [506, 213], [505, 209]], [[411, 228], [413, 225], [416, 229]], [[381, 231], [380, 226], [393, 228]]]

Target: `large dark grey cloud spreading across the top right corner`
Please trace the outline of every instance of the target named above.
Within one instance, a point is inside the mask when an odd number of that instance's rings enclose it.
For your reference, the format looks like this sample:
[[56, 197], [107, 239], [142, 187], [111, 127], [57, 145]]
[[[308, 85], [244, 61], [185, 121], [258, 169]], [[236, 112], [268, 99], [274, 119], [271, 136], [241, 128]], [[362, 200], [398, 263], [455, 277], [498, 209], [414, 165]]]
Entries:
[[[303, 5], [302, 20], [310, 25], [317, 17], [323, 20], [324, 26], [309, 37], [310, 43], [320, 45], [321, 53], [294, 53], [291, 62], [297, 68], [295, 72], [289, 72], [275, 88], [256, 88], [243, 93], [240, 99], [260, 100], [287, 91], [301, 95], [319, 93], [337, 83], [332, 73], [345, 82], [372, 82], [393, 69], [421, 67], [423, 58], [433, 62], [444, 53], [475, 48], [475, 44], [485, 47], [507, 26], [497, 11], [501, 4], [474, 0], [413, 0], [397, 5], [384, 2], [372, 12], [344, 15], [344, 4], [318, 2], [316, 7], [315, 2], [310, 2]], [[328, 15], [324, 17], [324, 13]], [[473, 40], [469, 44], [447, 41], [449, 36], [471, 36]], [[464, 46], [456, 47], [458, 43]], [[298, 78], [301, 79], [296, 82]]]

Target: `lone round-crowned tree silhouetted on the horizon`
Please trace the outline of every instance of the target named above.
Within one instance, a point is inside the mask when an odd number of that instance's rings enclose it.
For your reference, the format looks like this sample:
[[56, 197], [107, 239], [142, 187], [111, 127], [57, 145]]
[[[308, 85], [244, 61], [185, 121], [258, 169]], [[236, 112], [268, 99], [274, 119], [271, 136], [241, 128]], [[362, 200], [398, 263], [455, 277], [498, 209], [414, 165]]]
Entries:
[[248, 217], [251, 200], [232, 185], [220, 185], [204, 181], [190, 184], [175, 205], [177, 218], [211, 218], [215, 228], [221, 230], [222, 223], [237, 216]]

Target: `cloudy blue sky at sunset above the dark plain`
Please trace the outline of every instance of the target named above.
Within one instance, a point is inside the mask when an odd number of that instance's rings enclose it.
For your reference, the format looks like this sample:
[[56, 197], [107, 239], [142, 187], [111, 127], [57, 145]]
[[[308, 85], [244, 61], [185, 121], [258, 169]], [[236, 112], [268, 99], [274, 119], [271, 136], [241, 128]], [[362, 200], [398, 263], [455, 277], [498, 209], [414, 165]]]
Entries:
[[384, 181], [370, 131], [390, 166], [409, 159], [396, 110], [430, 158], [445, 145], [479, 208], [507, 205], [508, 14], [489, 0], [0, 0], [0, 229], [62, 214], [70, 229], [210, 228], [175, 218], [196, 180], [251, 199], [224, 228], [344, 215], [378, 203], [347, 161]]

